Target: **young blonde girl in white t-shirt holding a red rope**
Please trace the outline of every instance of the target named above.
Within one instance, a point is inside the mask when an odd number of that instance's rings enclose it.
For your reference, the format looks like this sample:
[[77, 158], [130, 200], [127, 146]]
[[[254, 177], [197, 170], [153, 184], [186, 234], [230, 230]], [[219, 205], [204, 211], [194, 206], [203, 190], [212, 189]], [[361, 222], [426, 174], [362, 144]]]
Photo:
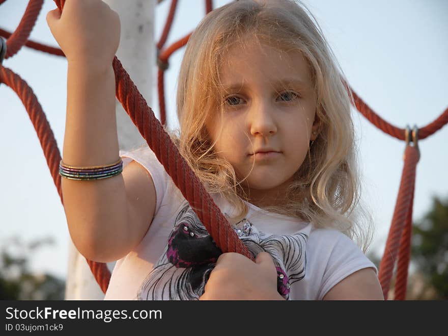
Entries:
[[66, 0], [47, 21], [68, 60], [67, 222], [88, 259], [118, 260], [106, 299], [383, 298], [351, 240], [364, 236], [350, 95], [304, 6], [240, 0], [212, 11], [179, 75], [172, 138], [255, 263], [221, 253], [146, 144], [119, 153], [118, 15]]

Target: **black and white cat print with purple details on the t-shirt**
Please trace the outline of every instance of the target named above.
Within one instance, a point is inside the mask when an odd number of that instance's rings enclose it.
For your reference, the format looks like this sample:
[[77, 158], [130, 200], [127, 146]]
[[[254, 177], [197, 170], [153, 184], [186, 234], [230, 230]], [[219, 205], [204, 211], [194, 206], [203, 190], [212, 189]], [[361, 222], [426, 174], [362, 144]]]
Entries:
[[[291, 285], [304, 276], [306, 235], [265, 235], [243, 219], [235, 231], [256, 256], [268, 252], [278, 275], [278, 291], [289, 298]], [[205, 226], [186, 203], [176, 217], [165, 250], [138, 291], [139, 300], [194, 300], [204, 294], [205, 284], [222, 252]]]

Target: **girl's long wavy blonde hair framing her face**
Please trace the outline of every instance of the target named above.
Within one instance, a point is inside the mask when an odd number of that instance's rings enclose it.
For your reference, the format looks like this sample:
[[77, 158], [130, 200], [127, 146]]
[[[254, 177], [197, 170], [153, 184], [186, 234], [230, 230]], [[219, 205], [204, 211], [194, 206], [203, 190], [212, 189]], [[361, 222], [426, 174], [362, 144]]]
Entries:
[[366, 250], [369, 230], [362, 229], [360, 211], [354, 211], [359, 208], [360, 184], [350, 115], [353, 97], [344, 86], [343, 72], [319, 24], [303, 4], [240, 0], [215, 9], [200, 22], [188, 41], [179, 74], [180, 131], [171, 133], [182, 156], [209, 193], [220, 193], [235, 206], [237, 215], [229, 218], [231, 222], [247, 214], [243, 199], [249, 200], [241, 181], [232, 165], [218, 158], [205, 126], [210, 113], [221, 105], [221, 62], [229, 46], [243, 36], [302, 53], [311, 69], [320, 121], [318, 138], [295, 173], [287, 200], [282, 206], [263, 209], [312, 221], [316, 227], [338, 229]]

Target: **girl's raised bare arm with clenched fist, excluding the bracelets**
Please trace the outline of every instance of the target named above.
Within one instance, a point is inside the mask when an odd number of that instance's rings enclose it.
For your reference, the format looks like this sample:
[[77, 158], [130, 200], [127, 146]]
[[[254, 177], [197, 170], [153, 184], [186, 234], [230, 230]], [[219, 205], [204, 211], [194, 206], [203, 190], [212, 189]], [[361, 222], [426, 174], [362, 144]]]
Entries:
[[[50, 11], [47, 22], [68, 61], [63, 162], [76, 167], [114, 163], [119, 147], [112, 62], [119, 17], [99, 0], [66, 0], [63, 14]], [[142, 239], [154, 214], [153, 181], [136, 163], [105, 179], [62, 178], [62, 193], [70, 236], [94, 261], [124, 256]], [[149, 201], [147, 209], [142, 200]]]

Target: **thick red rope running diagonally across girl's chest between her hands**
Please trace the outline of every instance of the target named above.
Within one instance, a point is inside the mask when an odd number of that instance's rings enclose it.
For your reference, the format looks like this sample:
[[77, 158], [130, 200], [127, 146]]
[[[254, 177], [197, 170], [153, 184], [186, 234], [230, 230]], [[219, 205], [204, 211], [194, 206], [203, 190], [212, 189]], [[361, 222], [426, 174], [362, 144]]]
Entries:
[[164, 131], [163, 126], [154, 116], [154, 112], [148, 107], [145, 98], [138, 92], [117, 57], [115, 57], [113, 65], [117, 99], [166, 172], [171, 176], [174, 184], [188, 200], [213, 240], [222, 252], [237, 252], [254, 260], [254, 256], [238, 238], [199, 178], [189, 168], [170, 136]]

